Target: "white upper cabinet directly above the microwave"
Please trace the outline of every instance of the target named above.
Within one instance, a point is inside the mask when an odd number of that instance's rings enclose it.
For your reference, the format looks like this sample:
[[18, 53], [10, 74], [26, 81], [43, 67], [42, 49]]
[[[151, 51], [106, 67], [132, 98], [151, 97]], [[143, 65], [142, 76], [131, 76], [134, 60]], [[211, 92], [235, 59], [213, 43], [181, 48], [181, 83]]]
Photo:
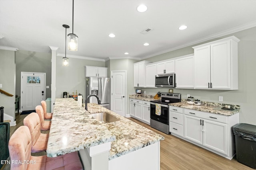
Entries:
[[174, 60], [164, 61], [156, 64], [156, 74], [174, 73], [175, 62]]

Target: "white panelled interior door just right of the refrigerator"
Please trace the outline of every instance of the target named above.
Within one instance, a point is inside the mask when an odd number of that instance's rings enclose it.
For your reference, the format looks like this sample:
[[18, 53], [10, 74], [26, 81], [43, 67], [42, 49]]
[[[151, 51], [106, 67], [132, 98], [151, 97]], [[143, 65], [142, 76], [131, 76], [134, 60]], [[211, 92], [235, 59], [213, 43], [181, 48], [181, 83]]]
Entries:
[[126, 114], [126, 71], [111, 72], [111, 111]]

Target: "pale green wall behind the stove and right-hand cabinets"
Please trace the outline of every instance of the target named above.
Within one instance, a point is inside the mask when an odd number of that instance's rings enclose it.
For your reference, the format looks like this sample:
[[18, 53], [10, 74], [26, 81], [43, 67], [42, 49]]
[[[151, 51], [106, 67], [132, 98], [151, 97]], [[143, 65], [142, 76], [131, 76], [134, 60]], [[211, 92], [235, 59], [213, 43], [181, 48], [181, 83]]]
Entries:
[[[194, 98], [206, 102], [218, 102], [218, 96], [223, 96], [223, 102], [218, 103], [240, 105], [240, 122], [256, 125], [256, 92], [254, 90], [256, 84], [256, 27], [219, 37], [218, 39], [232, 35], [240, 39], [240, 42], [238, 42], [238, 90], [194, 90], [174, 88], [174, 93], [181, 93], [182, 99], [186, 99], [187, 94], [190, 94], [191, 96], [194, 96]], [[212, 39], [210, 41], [215, 40], [217, 39]], [[188, 55], [194, 53], [192, 47], [203, 43], [198, 43], [145, 60], [156, 62], [182, 55]], [[143, 88], [143, 90], [146, 90], [146, 94], [152, 95], [156, 94], [158, 91], [168, 92], [168, 89], [169, 88]]]

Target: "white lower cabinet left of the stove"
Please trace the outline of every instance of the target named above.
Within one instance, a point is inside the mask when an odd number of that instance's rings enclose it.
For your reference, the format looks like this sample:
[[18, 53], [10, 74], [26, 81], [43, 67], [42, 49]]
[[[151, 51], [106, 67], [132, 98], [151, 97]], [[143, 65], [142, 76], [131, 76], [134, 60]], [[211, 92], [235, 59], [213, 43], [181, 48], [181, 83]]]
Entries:
[[130, 115], [150, 125], [150, 102], [130, 99]]

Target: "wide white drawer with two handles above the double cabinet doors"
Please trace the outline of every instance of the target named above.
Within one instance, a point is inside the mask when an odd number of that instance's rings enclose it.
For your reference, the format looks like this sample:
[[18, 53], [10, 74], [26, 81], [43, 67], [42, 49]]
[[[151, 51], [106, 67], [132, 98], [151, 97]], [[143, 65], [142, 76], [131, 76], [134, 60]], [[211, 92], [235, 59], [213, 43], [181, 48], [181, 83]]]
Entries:
[[222, 123], [228, 123], [228, 117], [224, 115], [218, 115], [214, 113], [208, 113], [208, 112], [196, 111], [196, 110], [190, 110], [190, 109], [184, 109], [184, 113], [186, 115], [201, 117], [202, 119], [209, 119], [209, 120], [218, 121]]

